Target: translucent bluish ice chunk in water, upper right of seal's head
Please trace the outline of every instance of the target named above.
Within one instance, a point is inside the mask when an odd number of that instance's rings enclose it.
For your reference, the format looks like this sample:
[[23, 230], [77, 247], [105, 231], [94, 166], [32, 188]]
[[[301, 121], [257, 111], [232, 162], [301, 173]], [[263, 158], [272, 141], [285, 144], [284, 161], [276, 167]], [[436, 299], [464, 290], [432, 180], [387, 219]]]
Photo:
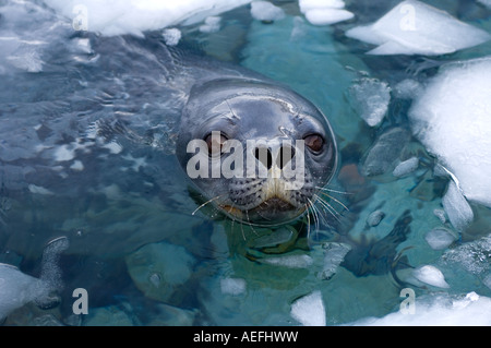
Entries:
[[387, 112], [391, 88], [385, 82], [364, 77], [349, 88], [357, 113], [370, 127], [379, 125]]

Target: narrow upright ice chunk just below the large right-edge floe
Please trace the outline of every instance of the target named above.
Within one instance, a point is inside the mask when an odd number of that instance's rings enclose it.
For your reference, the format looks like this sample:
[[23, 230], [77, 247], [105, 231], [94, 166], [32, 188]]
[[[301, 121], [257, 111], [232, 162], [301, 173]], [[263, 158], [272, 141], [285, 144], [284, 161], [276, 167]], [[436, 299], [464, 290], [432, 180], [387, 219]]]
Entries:
[[448, 189], [442, 199], [442, 204], [452, 226], [454, 226], [456, 230], [465, 230], [472, 221], [472, 209], [454, 181], [448, 183]]

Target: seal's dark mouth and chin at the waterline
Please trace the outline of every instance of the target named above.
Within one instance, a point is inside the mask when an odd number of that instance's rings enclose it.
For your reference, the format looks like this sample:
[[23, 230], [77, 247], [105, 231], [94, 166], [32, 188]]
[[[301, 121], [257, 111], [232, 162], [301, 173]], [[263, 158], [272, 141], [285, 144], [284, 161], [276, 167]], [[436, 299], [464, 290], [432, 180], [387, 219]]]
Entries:
[[230, 205], [220, 206], [235, 219], [250, 225], [274, 226], [294, 220], [303, 214], [306, 207], [296, 207], [291, 203], [274, 196], [263, 201], [251, 209], [239, 209]]

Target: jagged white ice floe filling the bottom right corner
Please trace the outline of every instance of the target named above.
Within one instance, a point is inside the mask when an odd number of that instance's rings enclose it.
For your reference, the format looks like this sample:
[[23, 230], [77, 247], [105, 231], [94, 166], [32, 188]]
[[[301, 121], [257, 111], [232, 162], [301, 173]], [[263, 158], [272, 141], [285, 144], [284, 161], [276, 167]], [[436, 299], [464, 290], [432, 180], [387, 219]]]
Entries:
[[416, 298], [415, 314], [400, 311], [383, 317], [367, 317], [350, 325], [371, 326], [489, 326], [491, 325], [491, 298], [470, 292], [464, 298], [436, 295]]

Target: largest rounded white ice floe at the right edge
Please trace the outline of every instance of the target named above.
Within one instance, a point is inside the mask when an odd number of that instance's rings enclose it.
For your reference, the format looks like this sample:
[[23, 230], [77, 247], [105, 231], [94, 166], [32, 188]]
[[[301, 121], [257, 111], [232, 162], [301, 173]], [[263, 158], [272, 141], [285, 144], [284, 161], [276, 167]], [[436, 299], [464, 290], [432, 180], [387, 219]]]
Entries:
[[491, 57], [451, 63], [414, 101], [409, 118], [416, 136], [458, 179], [465, 197], [491, 207], [490, 95]]

